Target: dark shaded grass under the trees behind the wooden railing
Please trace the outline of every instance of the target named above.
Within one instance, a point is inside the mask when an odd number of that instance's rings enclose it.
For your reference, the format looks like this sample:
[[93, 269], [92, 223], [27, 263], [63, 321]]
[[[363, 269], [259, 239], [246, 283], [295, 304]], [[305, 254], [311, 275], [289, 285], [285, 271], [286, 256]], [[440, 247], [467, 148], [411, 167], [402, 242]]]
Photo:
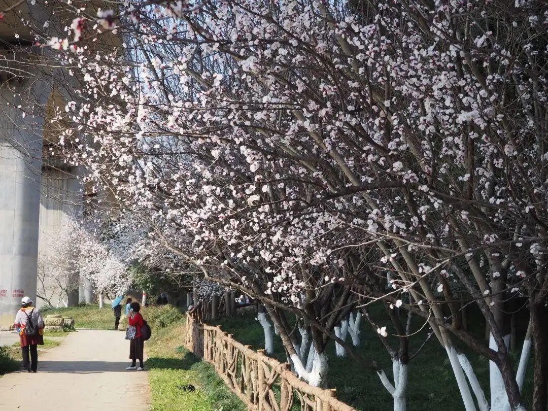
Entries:
[[[249, 344], [254, 349], [264, 348], [262, 327], [255, 320], [254, 313], [246, 313], [233, 318], [224, 318], [217, 322], [222, 329], [232, 334], [243, 344]], [[414, 329], [422, 326], [415, 324]], [[378, 336], [367, 323], [362, 321], [361, 353], [365, 358], [379, 362], [391, 377], [390, 358], [383, 346], [379, 344]], [[424, 336], [424, 332], [421, 333]], [[349, 339], [350, 340], [350, 336]], [[411, 352], [415, 352], [424, 338], [412, 340]], [[478, 379], [488, 395], [489, 375], [488, 361], [474, 353], [466, 352]], [[279, 361], [286, 362], [286, 355], [279, 338], [275, 337], [275, 353]], [[337, 358], [335, 346], [328, 346], [329, 375], [327, 386], [336, 389], [336, 397], [359, 410], [380, 411], [391, 409], [392, 397], [381, 385], [376, 373], [364, 368], [351, 358]], [[516, 353], [516, 359], [519, 353]], [[530, 367], [529, 367], [530, 368]], [[529, 370], [523, 395], [526, 406], [530, 408], [532, 397], [532, 373]], [[421, 411], [461, 411], [463, 404], [460, 399], [447, 355], [435, 338], [432, 338], [421, 353], [409, 363], [409, 379], [407, 389], [408, 410]]]

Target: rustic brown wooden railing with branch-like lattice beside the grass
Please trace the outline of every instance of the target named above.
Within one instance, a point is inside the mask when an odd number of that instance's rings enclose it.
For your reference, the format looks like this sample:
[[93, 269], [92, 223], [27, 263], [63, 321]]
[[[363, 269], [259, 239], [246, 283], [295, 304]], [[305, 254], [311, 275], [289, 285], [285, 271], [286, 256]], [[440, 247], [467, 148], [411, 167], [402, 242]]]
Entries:
[[186, 318], [186, 348], [213, 364], [249, 410], [356, 411], [336, 399], [335, 390], [322, 390], [299, 380], [289, 364], [238, 343], [219, 326], [198, 323], [191, 316]]

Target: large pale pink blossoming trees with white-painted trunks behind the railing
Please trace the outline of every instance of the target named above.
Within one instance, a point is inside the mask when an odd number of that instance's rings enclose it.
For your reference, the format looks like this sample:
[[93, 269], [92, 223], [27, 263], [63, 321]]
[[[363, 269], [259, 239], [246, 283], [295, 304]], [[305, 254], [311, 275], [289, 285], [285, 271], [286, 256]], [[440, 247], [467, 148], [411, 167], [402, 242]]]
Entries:
[[[529, 363], [546, 408], [545, 2], [112, 4], [71, 5], [55, 36], [28, 24], [58, 50], [44, 53], [63, 73], [56, 151], [151, 247], [260, 301], [311, 384], [334, 340], [405, 409], [418, 317], [466, 410], [524, 409]], [[518, 297], [530, 320], [515, 364]], [[362, 314], [391, 373], [346, 341]], [[489, 360], [489, 386], [461, 347]]]

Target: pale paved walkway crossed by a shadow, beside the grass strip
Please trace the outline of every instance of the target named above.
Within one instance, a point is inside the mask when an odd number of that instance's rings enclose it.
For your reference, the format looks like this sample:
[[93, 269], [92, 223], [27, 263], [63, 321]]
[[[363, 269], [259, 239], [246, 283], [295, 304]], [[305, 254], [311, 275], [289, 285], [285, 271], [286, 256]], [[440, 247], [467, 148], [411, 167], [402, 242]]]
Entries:
[[[127, 371], [129, 341], [117, 331], [78, 330], [38, 356], [38, 372], [0, 377], [0, 410], [146, 411], [146, 372]], [[31, 383], [31, 384], [29, 384]]]

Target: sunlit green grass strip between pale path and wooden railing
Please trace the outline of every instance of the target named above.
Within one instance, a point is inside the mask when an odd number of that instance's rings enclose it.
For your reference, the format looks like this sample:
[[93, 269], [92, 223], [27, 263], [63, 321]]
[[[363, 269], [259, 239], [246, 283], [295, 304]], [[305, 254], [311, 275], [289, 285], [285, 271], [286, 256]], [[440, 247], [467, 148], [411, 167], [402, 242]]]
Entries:
[[[246, 410], [212, 365], [181, 346], [183, 330], [182, 322], [153, 330], [152, 338], [146, 344], [151, 411]], [[195, 386], [196, 390], [190, 392], [181, 388], [187, 384]]]

